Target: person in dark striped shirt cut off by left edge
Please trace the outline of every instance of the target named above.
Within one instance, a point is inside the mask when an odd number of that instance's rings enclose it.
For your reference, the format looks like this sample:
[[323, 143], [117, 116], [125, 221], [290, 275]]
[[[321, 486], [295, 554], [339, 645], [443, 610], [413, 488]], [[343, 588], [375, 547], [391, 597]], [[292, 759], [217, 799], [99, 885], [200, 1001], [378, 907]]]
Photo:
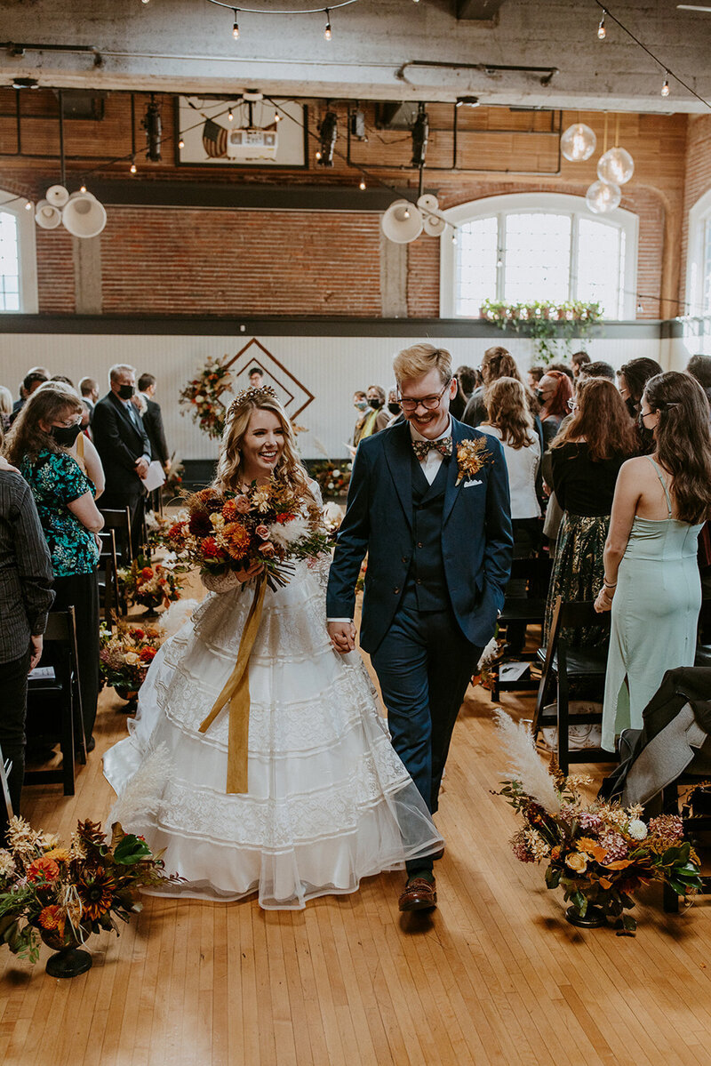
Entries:
[[[0, 747], [13, 761], [15, 813], [25, 777], [27, 677], [39, 662], [53, 599], [52, 565], [30, 486], [0, 459]], [[0, 838], [4, 815], [0, 796]]]

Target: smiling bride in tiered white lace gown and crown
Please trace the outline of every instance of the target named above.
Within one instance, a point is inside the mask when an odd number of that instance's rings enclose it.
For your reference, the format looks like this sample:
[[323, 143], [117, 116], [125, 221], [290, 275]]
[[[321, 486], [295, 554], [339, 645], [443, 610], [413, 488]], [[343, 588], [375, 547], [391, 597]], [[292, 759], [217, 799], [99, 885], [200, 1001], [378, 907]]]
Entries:
[[[272, 475], [318, 497], [273, 391], [247, 389], [227, 415], [215, 487]], [[167, 872], [183, 878], [168, 893], [258, 892], [266, 909], [294, 909], [443, 842], [390, 745], [359, 653], [339, 655], [326, 634], [321, 562], [297, 562], [288, 585], [265, 591], [249, 658], [248, 791], [225, 793], [227, 709], [199, 726], [235, 667], [260, 569], [204, 577], [211, 593], [158, 651], [129, 737], [103, 771], [118, 793], [111, 821], [164, 849]]]

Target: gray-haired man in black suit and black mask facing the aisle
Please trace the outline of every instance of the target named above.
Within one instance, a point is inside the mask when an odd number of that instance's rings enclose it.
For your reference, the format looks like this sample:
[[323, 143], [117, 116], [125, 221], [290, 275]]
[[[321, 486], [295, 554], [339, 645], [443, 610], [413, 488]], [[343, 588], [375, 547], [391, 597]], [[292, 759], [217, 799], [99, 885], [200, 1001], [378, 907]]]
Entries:
[[135, 391], [135, 370], [125, 364], [109, 371], [110, 390], [94, 408], [92, 432], [103, 465], [107, 487], [101, 507], [108, 511], [130, 507], [131, 544], [135, 554], [143, 532], [143, 503], [146, 490], [141, 481], [148, 472], [150, 443], [131, 398]]

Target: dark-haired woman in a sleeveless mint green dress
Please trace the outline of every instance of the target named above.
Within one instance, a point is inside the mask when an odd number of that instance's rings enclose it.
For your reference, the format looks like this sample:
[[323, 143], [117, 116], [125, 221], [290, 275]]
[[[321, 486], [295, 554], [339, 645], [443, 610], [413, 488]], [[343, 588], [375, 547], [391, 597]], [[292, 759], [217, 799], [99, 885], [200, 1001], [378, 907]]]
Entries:
[[628, 459], [617, 478], [604, 583], [595, 602], [612, 610], [602, 747], [642, 712], [667, 669], [693, 666], [701, 584], [696, 539], [711, 515], [709, 401], [689, 374], [650, 378], [640, 424], [655, 451]]

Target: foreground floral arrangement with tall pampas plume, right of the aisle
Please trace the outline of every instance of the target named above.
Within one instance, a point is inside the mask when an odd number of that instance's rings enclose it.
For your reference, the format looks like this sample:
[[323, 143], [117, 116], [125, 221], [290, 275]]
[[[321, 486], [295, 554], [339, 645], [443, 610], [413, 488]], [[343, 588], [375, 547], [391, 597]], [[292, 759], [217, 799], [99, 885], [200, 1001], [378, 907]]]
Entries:
[[698, 856], [683, 840], [679, 817], [662, 814], [647, 825], [642, 806], [586, 802], [581, 787], [592, 778], [565, 777], [553, 764], [547, 770], [523, 723], [500, 711], [498, 724], [513, 776], [495, 795], [523, 818], [511, 841], [514, 854], [521, 862], [547, 863], [546, 886], [563, 889], [572, 924], [596, 909], [601, 919], [619, 921], [618, 936], [633, 936], [636, 921], [625, 911], [642, 886], [666, 883], [679, 895], [701, 887]]

